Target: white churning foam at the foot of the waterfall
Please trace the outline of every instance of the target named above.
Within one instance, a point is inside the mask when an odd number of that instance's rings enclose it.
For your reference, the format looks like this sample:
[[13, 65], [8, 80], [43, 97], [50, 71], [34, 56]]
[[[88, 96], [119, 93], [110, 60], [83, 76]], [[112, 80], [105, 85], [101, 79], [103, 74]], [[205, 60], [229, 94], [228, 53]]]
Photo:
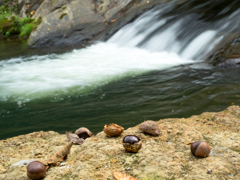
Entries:
[[152, 53], [113, 43], [62, 55], [10, 59], [0, 64], [0, 100], [24, 102], [70, 91], [81, 93], [127, 76], [191, 62], [174, 53]]

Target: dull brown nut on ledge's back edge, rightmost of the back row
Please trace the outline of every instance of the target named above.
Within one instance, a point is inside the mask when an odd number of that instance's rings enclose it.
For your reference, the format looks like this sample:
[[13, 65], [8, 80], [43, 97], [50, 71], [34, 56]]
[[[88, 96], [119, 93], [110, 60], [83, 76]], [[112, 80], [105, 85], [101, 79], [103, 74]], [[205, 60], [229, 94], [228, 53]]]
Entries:
[[158, 136], [160, 134], [160, 129], [158, 127], [158, 124], [151, 120], [141, 123], [139, 125], [139, 129], [153, 136]]

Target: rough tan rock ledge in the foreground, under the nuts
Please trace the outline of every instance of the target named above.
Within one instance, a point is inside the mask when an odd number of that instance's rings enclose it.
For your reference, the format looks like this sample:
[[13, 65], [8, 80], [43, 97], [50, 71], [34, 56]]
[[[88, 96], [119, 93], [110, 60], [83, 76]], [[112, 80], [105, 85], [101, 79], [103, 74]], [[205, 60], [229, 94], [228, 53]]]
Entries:
[[[100, 132], [82, 145], [73, 145], [66, 162], [51, 167], [45, 180], [113, 180], [112, 171], [138, 180], [240, 179], [238, 106], [157, 123], [160, 128], [157, 137], [142, 133], [136, 126], [120, 137], [110, 138]], [[142, 139], [143, 146], [136, 154], [126, 153], [122, 146], [122, 138], [130, 134]], [[206, 141], [212, 148], [210, 156], [194, 157], [190, 152], [194, 141]], [[35, 132], [0, 141], [0, 179], [27, 179], [27, 167], [21, 160], [42, 161], [67, 142], [66, 135], [56, 132]]]

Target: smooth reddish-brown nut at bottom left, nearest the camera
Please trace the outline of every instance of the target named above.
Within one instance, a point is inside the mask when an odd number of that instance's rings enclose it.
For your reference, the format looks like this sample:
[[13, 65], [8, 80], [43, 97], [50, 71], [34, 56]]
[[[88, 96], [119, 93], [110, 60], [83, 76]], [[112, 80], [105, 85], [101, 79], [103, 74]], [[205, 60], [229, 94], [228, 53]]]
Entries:
[[40, 161], [33, 161], [27, 167], [27, 176], [30, 179], [42, 179], [46, 175], [46, 167]]

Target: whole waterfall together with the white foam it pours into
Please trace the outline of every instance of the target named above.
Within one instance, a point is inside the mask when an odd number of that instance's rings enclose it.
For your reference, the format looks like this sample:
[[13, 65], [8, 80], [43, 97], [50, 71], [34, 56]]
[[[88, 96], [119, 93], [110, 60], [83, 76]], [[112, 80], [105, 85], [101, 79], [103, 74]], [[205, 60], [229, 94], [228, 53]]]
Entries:
[[240, 17], [235, 10], [220, 19], [206, 20], [204, 12], [197, 11], [207, 6], [202, 2], [182, 14], [172, 13], [184, 8], [175, 1], [157, 6], [107, 42], [60, 55], [0, 61], [0, 101], [19, 105], [39, 98], [58, 101], [126, 77], [201, 61], [225, 34], [237, 28], [234, 22]]

